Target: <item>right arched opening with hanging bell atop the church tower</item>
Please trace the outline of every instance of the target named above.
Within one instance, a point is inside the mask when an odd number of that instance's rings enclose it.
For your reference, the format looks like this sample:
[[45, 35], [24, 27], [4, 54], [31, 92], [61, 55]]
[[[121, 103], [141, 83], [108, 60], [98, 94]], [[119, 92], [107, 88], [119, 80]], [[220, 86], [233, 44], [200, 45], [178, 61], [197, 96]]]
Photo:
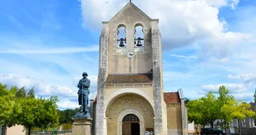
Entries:
[[134, 47], [143, 47], [144, 46], [144, 31], [141, 24], [135, 25], [134, 30]]

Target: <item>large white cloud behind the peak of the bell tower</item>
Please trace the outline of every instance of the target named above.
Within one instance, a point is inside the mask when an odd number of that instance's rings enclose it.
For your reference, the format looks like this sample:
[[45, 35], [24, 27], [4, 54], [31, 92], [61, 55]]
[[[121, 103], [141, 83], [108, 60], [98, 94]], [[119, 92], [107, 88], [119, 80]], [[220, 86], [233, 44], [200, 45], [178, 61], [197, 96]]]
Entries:
[[[127, 1], [80, 0], [87, 27], [101, 28], [101, 21], [110, 20]], [[225, 58], [233, 47], [251, 37], [250, 34], [227, 31], [228, 24], [219, 19], [219, 8], [235, 8], [239, 0], [144, 0], [133, 1], [151, 18], [159, 19], [162, 45], [165, 50], [197, 42], [201, 58]], [[153, 9], [153, 10], [152, 10]], [[168, 13], [166, 13], [168, 12]], [[171, 36], [170, 36], [171, 35]]]

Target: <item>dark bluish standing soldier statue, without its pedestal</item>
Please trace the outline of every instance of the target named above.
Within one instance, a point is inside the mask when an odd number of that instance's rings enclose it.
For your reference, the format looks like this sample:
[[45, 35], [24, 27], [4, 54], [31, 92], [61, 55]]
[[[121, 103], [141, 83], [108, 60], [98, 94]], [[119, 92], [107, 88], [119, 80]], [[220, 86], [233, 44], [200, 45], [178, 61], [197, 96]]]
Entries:
[[81, 105], [81, 112], [84, 112], [87, 114], [89, 112], [88, 109], [88, 102], [89, 98], [88, 95], [90, 94], [89, 87], [91, 81], [87, 79], [88, 74], [86, 72], [83, 73], [84, 78], [82, 78], [79, 83], [77, 84], [77, 87], [79, 87], [78, 94], [78, 102], [79, 105]]

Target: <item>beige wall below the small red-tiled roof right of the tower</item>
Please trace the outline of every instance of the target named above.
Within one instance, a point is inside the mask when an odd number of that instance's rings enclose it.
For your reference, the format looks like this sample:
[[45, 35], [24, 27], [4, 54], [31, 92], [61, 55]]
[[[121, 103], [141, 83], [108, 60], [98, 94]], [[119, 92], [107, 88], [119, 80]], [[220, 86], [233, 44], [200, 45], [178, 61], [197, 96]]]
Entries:
[[180, 104], [167, 104], [168, 134], [182, 134], [182, 118]]

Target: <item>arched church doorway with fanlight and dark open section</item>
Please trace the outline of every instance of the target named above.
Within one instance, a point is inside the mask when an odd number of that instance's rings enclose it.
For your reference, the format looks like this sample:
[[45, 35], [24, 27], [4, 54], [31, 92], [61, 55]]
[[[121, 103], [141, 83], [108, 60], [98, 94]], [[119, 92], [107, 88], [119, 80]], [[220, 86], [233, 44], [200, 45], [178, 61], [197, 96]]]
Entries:
[[123, 135], [140, 135], [140, 119], [137, 115], [124, 116], [122, 123]]

